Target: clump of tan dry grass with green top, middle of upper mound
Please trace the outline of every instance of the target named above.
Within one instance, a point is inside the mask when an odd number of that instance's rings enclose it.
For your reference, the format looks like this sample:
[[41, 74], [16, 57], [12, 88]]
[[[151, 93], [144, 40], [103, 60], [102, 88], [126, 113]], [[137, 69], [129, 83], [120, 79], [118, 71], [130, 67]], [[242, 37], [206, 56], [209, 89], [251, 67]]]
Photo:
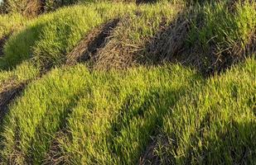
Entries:
[[135, 12], [120, 20], [113, 36], [96, 55], [94, 68], [127, 68], [138, 64], [138, 59], [147, 61], [143, 56], [147, 42], [153, 40], [163, 26], [175, 21], [181, 10], [182, 6], [168, 2], [137, 7]]

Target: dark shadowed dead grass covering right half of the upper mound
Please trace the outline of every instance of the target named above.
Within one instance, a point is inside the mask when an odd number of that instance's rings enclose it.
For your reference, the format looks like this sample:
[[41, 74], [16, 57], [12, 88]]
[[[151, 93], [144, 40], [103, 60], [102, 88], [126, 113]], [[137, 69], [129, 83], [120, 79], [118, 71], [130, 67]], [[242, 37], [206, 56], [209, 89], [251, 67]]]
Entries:
[[[230, 6], [233, 7], [234, 2], [227, 2], [222, 10], [213, 14], [215, 26], [218, 26], [219, 23], [225, 24], [218, 21], [223, 21], [221, 19], [225, 21], [226, 17], [223, 16], [225, 9]], [[139, 64], [178, 63], [186, 67], [196, 68], [199, 73], [208, 78], [216, 73], [223, 73], [233, 64], [244, 61], [246, 57], [256, 54], [256, 31], [250, 35], [248, 44], [245, 46], [240, 45], [238, 39], [235, 40], [238, 44], [235, 43], [229, 47], [228, 38], [223, 41], [222, 45], [226, 45], [220, 50], [220, 42], [215, 40], [216, 35], [218, 35], [215, 31], [218, 30], [215, 29], [209, 30], [213, 32], [206, 35], [208, 41], [203, 43], [200, 39], [201, 31], [204, 28], [210, 28], [211, 24], [206, 22], [205, 13], [202, 9], [204, 3], [201, 3], [201, 6], [198, 7], [198, 11], [188, 9], [181, 12], [175, 21], [172, 21], [154, 35], [152, 40], [148, 40], [146, 45], [143, 46], [145, 49], [138, 52], [138, 54], [142, 54], [137, 59]], [[229, 32], [229, 27], [225, 26], [225, 28]], [[192, 35], [196, 38], [193, 43], [190, 41]], [[204, 45], [207, 45], [206, 48]], [[147, 60], [145, 61], [145, 59]]]

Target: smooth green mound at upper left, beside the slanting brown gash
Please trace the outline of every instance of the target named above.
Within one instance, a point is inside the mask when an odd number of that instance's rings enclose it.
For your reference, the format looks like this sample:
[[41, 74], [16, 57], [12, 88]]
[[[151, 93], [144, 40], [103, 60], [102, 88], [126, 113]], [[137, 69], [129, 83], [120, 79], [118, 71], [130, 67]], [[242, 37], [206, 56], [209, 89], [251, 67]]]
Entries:
[[133, 5], [111, 7], [110, 3], [100, 3], [67, 7], [39, 17], [7, 41], [2, 59], [3, 68], [13, 67], [31, 58], [45, 68], [63, 64], [65, 54], [74, 49], [84, 35], [104, 21], [124, 14], [124, 7], [129, 9]]

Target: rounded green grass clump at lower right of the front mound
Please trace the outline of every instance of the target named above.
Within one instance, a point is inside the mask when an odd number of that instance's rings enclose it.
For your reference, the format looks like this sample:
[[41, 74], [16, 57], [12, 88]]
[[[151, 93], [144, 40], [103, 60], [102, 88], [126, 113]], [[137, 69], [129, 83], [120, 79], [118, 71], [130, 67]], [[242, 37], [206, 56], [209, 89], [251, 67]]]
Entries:
[[162, 163], [256, 163], [255, 67], [247, 59], [187, 91], [164, 116]]

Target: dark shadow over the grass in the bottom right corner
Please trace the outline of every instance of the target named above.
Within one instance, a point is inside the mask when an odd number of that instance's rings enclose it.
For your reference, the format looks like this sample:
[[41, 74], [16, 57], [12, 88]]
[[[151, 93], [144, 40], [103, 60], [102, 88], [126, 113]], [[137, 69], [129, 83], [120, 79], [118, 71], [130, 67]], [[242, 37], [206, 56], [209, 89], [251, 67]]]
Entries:
[[[205, 120], [207, 122], [207, 120]], [[152, 149], [144, 155], [141, 164], [255, 164], [256, 163], [256, 122], [234, 121], [225, 123], [220, 130], [216, 130], [216, 137], [204, 135], [210, 129], [210, 123], [200, 125], [201, 128], [191, 135], [191, 143], [184, 155], [176, 157], [170, 153], [172, 143], [163, 134], [158, 134]], [[208, 128], [207, 128], [208, 126]], [[159, 138], [160, 137], [160, 138]], [[198, 140], [201, 140], [202, 144]], [[170, 140], [170, 138], [169, 138]], [[173, 139], [175, 140], [175, 139]], [[171, 143], [171, 145], [170, 145]], [[200, 144], [200, 145], [199, 145]], [[159, 152], [159, 149], [162, 149]], [[158, 153], [156, 153], [158, 149]]]

